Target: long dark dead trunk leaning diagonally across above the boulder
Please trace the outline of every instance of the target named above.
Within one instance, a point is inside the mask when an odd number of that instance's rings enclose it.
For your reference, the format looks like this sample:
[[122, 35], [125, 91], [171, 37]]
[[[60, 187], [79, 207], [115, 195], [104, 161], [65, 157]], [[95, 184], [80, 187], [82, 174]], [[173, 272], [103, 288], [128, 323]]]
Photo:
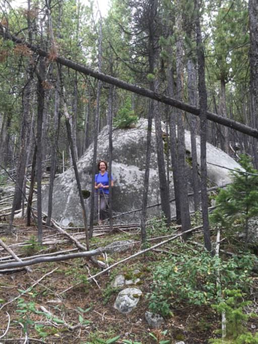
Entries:
[[[0, 24], [0, 35], [4, 39], [12, 40], [16, 44], [21, 44], [21, 45], [27, 46], [32, 51], [36, 52], [39, 56], [44, 56], [45, 58], [48, 58], [50, 56], [49, 52], [41, 49], [39, 46], [30, 44], [26, 40], [12, 35], [9, 32], [9, 30], [3, 24]], [[157, 100], [161, 103], [168, 104], [170, 106], [174, 106], [174, 107], [179, 108], [183, 111], [195, 114], [196, 116], [200, 116], [200, 109], [199, 108], [192, 106], [192, 105], [189, 105], [183, 101], [179, 101], [179, 100], [176, 100], [174, 98], [170, 98], [166, 95], [156, 93], [155, 91], [151, 91], [149, 89], [127, 83], [127, 82], [122, 81], [120, 79], [111, 77], [110, 75], [94, 71], [93, 69], [91, 69], [89, 67], [83, 66], [79, 63], [76, 63], [76, 62], [71, 61], [69, 59], [63, 58], [61, 56], [56, 56], [55, 61], [57, 63], [59, 63], [60, 65], [66, 66], [66, 67], [71, 68], [77, 72], [91, 76], [95, 79], [104, 81], [108, 84], [115, 85], [121, 89], [131, 91], [133, 93], [142, 95], [144, 97], [148, 97], [148, 98]], [[258, 138], [258, 130], [257, 129], [248, 127], [242, 123], [230, 120], [230, 119], [225, 118], [223, 116], [219, 116], [216, 113], [207, 111], [207, 120], [210, 120], [210, 121], [218, 123], [218, 124], [222, 124], [222, 125], [229, 127], [231, 129], [235, 129], [236, 131], [239, 131], [243, 134], [247, 134], [249, 136]]]

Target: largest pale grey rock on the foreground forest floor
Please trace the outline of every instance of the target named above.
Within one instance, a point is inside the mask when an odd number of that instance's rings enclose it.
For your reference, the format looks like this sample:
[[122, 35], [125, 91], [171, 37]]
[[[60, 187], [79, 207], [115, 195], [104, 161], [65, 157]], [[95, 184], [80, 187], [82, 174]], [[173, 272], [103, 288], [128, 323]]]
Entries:
[[130, 313], [137, 306], [142, 294], [138, 288], [126, 288], [117, 295], [114, 308], [123, 314]]

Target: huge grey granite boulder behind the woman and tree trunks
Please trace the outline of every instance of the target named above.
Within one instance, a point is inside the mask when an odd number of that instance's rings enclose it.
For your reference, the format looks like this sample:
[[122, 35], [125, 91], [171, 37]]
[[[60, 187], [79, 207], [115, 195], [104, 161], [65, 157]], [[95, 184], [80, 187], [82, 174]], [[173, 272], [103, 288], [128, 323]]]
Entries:
[[[164, 128], [165, 132], [165, 128]], [[141, 208], [143, 181], [145, 173], [147, 120], [141, 119], [133, 129], [113, 129], [113, 162], [112, 175], [114, 178], [113, 210], [125, 212]], [[150, 179], [148, 203], [160, 201], [159, 179], [156, 157], [155, 127], [152, 129], [152, 151], [150, 159]], [[186, 151], [189, 154], [190, 133], [185, 131]], [[200, 160], [200, 140], [197, 139], [198, 159]], [[93, 144], [89, 146], [78, 161], [78, 170], [82, 189], [91, 190]], [[104, 127], [98, 137], [97, 159], [108, 161], [108, 127]], [[207, 161], [229, 168], [240, 168], [239, 164], [220, 149], [207, 144]], [[200, 163], [200, 161], [199, 161]], [[187, 168], [187, 180], [191, 190], [190, 165]], [[173, 178], [170, 171], [170, 195], [173, 197]], [[230, 182], [229, 170], [208, 164], [208, 178], [212, 185], [222, 186]], [[48, 188], [43, 191], [42, 209], [47, 212]], [[90, 200], [85, 200], [89, 212]], [[54, 182], [52, 216], [62, 225], [79, 225], [83, 223], [78, 189], [73, 168], [59, 175]], [[149, 214], [160, 211], [155, 208]], [[171, 203], [171, 213], [175, 214], [174, 203]]]

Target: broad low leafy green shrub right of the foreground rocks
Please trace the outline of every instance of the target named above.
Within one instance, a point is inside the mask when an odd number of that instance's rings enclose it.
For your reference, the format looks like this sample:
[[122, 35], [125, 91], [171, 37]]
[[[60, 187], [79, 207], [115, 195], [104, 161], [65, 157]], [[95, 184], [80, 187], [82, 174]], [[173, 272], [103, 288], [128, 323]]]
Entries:
[[[170, 314], [172, 303], [211, 305], [220, 302], [221, 290], [246, 290], [251, 283], [250, 271], [254, 256], [232, 257], [226, 261], [208, 252], [192, 257], [181, 253], [155, 268], [153, 291], [148, 295], [149, 308], [163, 316]], [[220, 271], [221, 290], [217, 287]]]

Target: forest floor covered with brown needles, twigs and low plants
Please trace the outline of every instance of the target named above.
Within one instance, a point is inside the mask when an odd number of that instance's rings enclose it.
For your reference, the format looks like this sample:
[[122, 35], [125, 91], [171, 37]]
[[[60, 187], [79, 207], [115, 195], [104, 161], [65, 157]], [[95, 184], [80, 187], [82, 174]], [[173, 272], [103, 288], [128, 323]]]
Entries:
[[[58, 242], [64, 236], [49, 227], [44, 227], [44, 238], [50, 239], [52, 244], [38, 247], [36, 227], [27, 227], [22, 219], [16, 219], [15, 224], [17, 227], [12, 235], [3, 229], [0, 229], [0, 234], [5, 244], [21, 258], [75, 248], [67, 241]], [[140, 235], [138, 228], [128, 233], [118, 231], [94, 237], [90, 242], [91, 249], [118, 240], [138, 241]], [[195, 241], [202, 242], [202, 233], [193, 236]], [[216, 237], [212, 240], [216, 242]], [[12, 246], [18, 243], [23, 244]], [[165, 324], [159, 330], [150, 328], [145, 320], [153, 270], [167, 258], [168, 251], [176, 252], [176, 243], [171, 242], [162, 249], [163, 252], [150, 251], [119, 264], [110, 273], [102, 274], [91, 282], [86, 280], [87, 277], [99, 272], [100, 268], [85, 258], [31, 265], [30, 273], [23, 270], [0, 274], [0, 343], [97, 344], [102, 340], [108, 344], [116, 336], [120, 336], [117, 343], [124, 343], [124, 339], [132, 344], [162, 343], [162, 340], [169, 340], [170, 343], [183, 340], [185, 344], [208, 343], [208, 339], [214, 337], [214, 331], [221, 326], [220, 317], [211, 307], [175, 302], [171, 315], [165, 318]], [[141, 245], [136, 244], [127, 252], [108, 254], [106, 261], [111, 265], [139, 250]], [[0, 251], [0, 257], [6, 256], [7, 252]], [[98, 259], [104, 260], [102, 256]], [[135, 269], [141, 272], [137, 288], [141, 289], [143, 297], [135, 310], [123, 315], [113, 308], [121, 289], [112, 288], [111, 281], [120, 273], [130, 276]], [[256, 293], [257, 288], [258, 285]], [[46, 312], [51, 315], [46, 316]], [[258, 321], [252, 320], [248, 326], [258, 328]], [[26, 327], [28, 337], [24, 330]]]

